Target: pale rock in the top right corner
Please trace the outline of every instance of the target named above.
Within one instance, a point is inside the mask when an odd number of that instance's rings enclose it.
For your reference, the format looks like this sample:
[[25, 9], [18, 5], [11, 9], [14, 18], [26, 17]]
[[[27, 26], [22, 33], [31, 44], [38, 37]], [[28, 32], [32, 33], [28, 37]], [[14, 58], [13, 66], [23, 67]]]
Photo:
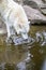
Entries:
[[39, 5], [41, 12], [46, 15], [46, 1], [45, 0], [40, 0], [40, 2], [39, 0], [33, 0], [33, 1]]

